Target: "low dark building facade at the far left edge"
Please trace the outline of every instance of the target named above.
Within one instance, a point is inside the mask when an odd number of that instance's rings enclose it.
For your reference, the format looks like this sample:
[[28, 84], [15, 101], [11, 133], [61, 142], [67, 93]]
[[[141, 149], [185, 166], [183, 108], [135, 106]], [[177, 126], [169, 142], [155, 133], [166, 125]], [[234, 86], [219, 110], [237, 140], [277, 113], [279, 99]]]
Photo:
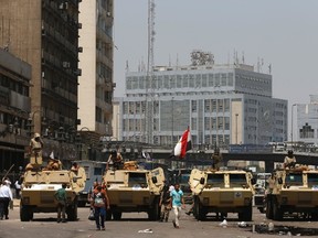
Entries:
[[0, 173], [19, 172], [29, 144], [31, 65], [0, 48]]

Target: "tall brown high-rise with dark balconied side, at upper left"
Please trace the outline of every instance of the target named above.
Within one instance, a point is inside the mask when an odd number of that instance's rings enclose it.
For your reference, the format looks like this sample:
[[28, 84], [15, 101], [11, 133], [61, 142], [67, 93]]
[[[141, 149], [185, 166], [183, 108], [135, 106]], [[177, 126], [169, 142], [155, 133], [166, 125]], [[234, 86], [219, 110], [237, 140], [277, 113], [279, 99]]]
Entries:
[[80, 2], [0, 0], [0, 46], [32, 66], [29, 132], [47, 138], [43, 156], [54, 150], [68, 162], [76, 159]]

